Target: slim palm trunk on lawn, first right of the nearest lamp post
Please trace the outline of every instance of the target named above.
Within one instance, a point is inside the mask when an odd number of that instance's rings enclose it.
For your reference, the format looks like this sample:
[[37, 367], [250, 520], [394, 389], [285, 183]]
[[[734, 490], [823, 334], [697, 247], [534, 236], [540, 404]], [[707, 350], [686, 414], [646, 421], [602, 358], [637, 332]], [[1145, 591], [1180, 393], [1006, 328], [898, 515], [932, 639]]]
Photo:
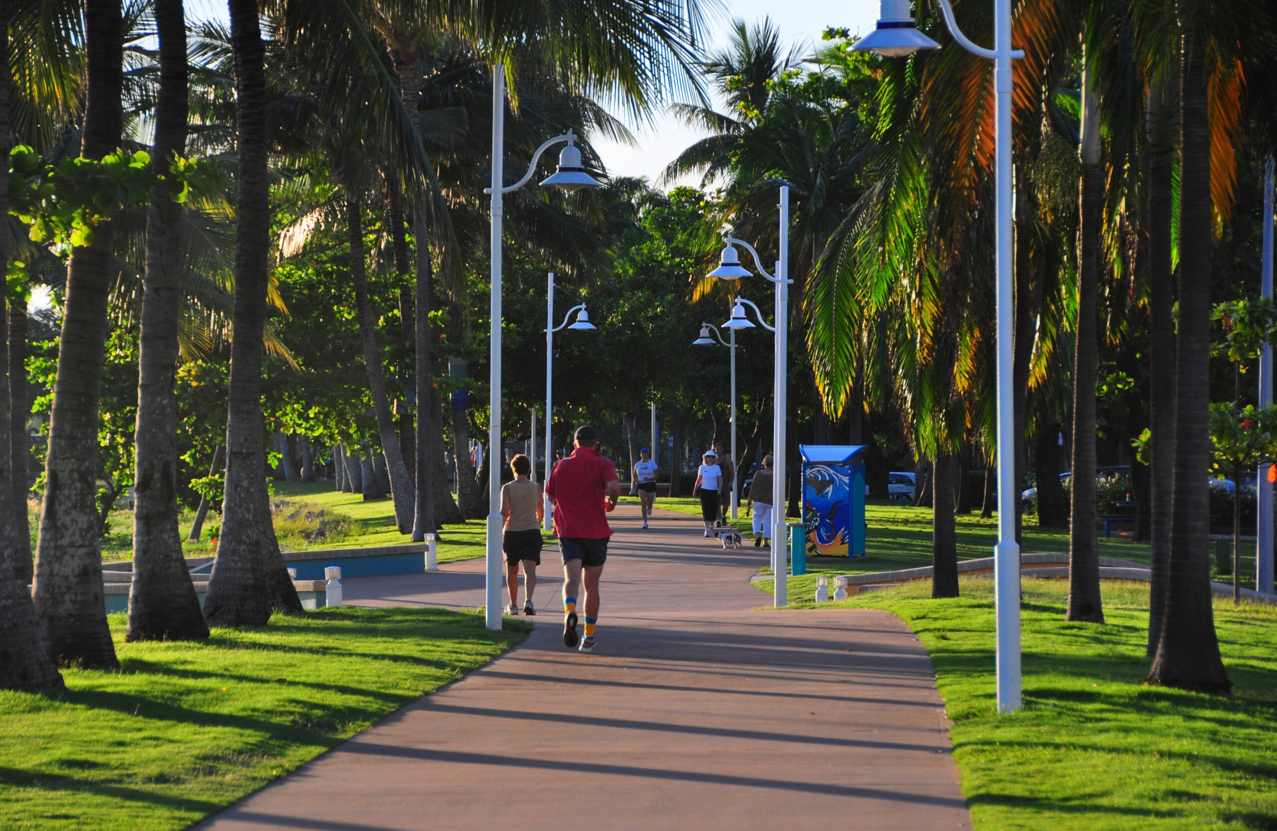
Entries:
[[1099, 102], [1091, 70], [1082, 82], [1082, 179], [1078, 195], [1078, 324], [1073, 361], [1073, 483], [1069, 488], [1069, 600], [1065, 620], [1103, 623], [1096, 548], [1096, 375], [1099, 317]]

